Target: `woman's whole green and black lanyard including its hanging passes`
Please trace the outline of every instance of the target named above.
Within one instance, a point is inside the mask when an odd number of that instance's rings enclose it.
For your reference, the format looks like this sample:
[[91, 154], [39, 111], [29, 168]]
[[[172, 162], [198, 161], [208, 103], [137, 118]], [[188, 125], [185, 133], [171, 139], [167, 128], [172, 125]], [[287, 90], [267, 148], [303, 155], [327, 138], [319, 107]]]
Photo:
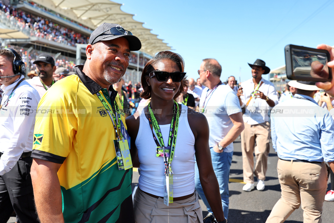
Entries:
[[[159, 127], [158, 121], [154, 116], [154, 113], [151, 108], [151, 102], [147, 106], [147, 113], [149, 124], [152, 130], [152, 135], [155, 144], [157, 145], [157, 154], [158, 151], [162, 149], [164, 164], [165, 164], [165, 193], [164, 193], [164, 204], [168, 206], [168, 203], [173, 203], [173, 196], [172, 196], [172, 187], [173, 187], [173, 172], [171, 168], [171, 163], [173, 161], [174, 152], [175, 152], [175, 144], [176, 144], [176, 137], [177, 137], [177, 130], [179, 126], [179, 118], [180, 118], [180, 111], [179, 105], [174, 101], [174, 109], [173, 109], [173, 118], [170, 124], [170, 131], [169, 131], [169, 138], [168, 138], [168, 145], [165, 147], [164, 140], [162, 138], [161, 129]], [[157, 135], [155, 137], [153, 129]], [[158, 138], [158, 139], [157, 139]], [[169, 151], [169, 152], [167, 152]]]

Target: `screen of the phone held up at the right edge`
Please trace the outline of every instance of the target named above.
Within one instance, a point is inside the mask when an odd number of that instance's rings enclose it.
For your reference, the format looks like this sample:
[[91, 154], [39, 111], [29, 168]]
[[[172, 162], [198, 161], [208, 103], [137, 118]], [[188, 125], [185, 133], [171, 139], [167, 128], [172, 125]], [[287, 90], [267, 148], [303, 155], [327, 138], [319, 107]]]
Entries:
[[292, 48], [291, 57], [294, 76], [329, 79], [326, 53]]

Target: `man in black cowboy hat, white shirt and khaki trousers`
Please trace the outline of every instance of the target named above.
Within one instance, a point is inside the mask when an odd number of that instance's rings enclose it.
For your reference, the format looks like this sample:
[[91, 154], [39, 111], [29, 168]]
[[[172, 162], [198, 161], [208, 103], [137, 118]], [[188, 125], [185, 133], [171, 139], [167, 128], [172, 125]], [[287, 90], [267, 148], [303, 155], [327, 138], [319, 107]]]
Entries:
[[[237, 95], [245, 113], [242, 116], [245, 129], [241, 132], [243, 181], [242, 190], [254, 189], [254, 174], [258, 178], [257, 189], [265, 189], [269, 155], [270, 124], [269, 110], [278, 103], [275, 86], [262, 77], [270, 68], [265, 61], [257, 59], [252, 67], [252, 78], [241, 83]], [[255, 146], [255, 143], [257, 146]], [[256, 156], [254, 171], [253, 153]]]

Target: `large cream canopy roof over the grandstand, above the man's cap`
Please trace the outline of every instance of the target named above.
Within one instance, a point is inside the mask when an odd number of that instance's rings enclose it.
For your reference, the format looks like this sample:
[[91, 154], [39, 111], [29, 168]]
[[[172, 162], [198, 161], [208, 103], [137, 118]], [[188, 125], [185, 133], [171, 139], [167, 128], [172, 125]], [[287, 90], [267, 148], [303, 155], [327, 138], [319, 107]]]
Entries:
[[122, 4], [109, 0], [34, 0], [34, 2], [93, 30], [104, 22], [118, 23], [137, 36], [142, 42], [141, 50], [150, 55], [171, 49], [167, 43], [151, 33], [150, 29], [144, 28], [144, 23], [135, 21], [133, 14], [123, 12]]

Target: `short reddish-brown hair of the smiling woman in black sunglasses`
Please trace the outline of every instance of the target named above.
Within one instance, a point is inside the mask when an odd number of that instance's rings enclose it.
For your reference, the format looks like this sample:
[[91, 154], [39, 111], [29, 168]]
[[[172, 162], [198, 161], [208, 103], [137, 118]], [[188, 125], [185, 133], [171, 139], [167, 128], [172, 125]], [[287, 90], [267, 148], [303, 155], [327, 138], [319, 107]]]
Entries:
[[[172, 60], [180, 68], [180, 72], [184, 72], [184, 60], [181, 55], [173, 53], [168, 50], [159, 52], [155, 57], [153, 57], [146, 63], [143, 69], [141, 77], [143, 91], [140, 94], [141, 98], [149, 99], [151, 97], [151, 86], [147, 84], [145, 77], [148, 76], [149, 73], [154, 70], [153, 68], [154, 64], [164, 59]], [[183, 80], [181, 81], [180, 88], [178, 92], [175, 94], [174, 99], [176, 99], [184, 91], [185, 86], [187, 86], [186, 77], [184, 77]]]

